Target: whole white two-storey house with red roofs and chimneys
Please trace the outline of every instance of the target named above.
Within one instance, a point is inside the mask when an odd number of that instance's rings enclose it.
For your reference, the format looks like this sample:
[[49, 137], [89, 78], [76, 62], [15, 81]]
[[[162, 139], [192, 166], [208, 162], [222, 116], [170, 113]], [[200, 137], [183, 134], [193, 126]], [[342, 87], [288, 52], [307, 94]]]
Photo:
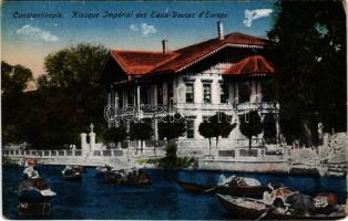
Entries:
[[[262, 118], [274, 115], [279, 135], [279, 105], [269, 86], [276, 75], [273, 42], [243, 33], [224, 35], [218, 22], [215, 39], [175, 51], [168, 51], [167, 43], [162, 41], [161, 52], [110, 51], [100, 76], [109, 92], [108, 106], [114, 107], [105, 108], [109, 127], [142, 119], [152, 124], [157, 140], [158, 118], [180, 113], [186, 118], [180, 139], [199, 140], [199, 124], [216, 112], [238, 120], [256, 109]], [[225, 137], [244, 138], [238, 127]]]

